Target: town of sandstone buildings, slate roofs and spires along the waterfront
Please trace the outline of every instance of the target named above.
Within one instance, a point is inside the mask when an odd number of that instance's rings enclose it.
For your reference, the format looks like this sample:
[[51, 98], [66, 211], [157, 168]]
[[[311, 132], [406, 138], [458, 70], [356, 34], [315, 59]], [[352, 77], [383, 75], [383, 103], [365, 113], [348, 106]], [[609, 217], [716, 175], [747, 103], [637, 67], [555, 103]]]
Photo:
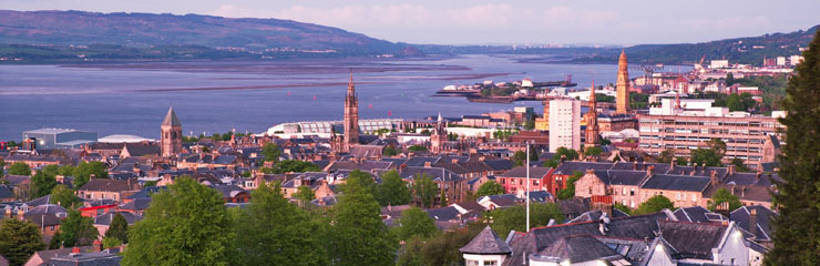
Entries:
[[[213, 190], [224, 208], [253, 211], [267, 190], [316, 214], [344, 204], [355, 181], [398, 232], [400, 260], [434, 257], [416, 250], [432, 244], [414, 237], [442, 231], [461, 235], [442, 252], [467, 265], [761, 265], [776, 234], [772, 193], [787, 145], [778, 117], [787, 114], [762, 114], [760, 88], [730, 83], [792, 74], [777, 62], [715, 60], [631, 80], [622, 52], [612, 95], [594, 83], [554, 89], [541, 114], [360, 120], [351, 72], [342, 121], [186, 136], [170, 108], [157, 117], [161, 140], [31, 130], [2, 143], [0, 217], [32, 223], [48, 245], [24, 265], [117, 265], [134, 237], [126, 228], [145, 219], [153, 195], [183, 193], [183, 180]], [[642, 93], [647, 104], [629, 102]], [[750, 104], [716, 106], [707, 93]]]

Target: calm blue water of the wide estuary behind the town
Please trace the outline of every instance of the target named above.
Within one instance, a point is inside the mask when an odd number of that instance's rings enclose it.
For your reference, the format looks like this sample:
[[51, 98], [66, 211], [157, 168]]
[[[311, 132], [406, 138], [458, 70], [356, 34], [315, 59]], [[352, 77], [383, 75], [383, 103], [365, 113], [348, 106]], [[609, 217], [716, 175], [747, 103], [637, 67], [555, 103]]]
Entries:
[[[515, 104], [431, 98], [444, 85], [483, 80], [615, 82], [615, 64], [535, 64], [469, 55], [428, 61], [289, 60], [276, 62], [0, 65], [0, 140], [39, 127], [157, 139], [174, 106], [185, 134], [259, 133], [283, 122], [341, 120], [349, 69], [363, 119], [480, 114]], [[633, 76], [640, 73], [632, 71]], [[388, 116], [388, 113], [391, 115]]]

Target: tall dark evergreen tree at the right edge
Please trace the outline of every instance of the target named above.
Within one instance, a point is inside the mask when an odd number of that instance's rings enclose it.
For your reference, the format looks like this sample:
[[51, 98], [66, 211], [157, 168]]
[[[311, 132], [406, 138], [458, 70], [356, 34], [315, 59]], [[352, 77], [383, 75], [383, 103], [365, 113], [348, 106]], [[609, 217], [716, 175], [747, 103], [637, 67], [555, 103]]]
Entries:
[[820, 265], [820, 32], [803, 52], [806, 59], [789, 79], [780, 123], [786, 126], [786, 145], [772, 194], [780, 214], [775, 217], [775, 247], [766, 265]]

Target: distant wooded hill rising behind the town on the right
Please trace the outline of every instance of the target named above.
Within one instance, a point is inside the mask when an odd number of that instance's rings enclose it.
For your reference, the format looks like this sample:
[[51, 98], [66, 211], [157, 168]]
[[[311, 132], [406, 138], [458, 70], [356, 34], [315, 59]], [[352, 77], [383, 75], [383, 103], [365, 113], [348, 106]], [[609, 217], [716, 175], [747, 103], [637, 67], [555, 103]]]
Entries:
[[[626, 48], [629, 63], [697, 63], [701, 58], [706, 62], [727, 59], [730, 62], [762, 64], [763, 58], [789, 57], [801, 54], [799, 48], [806, 48], [820, 25], [809, 30], [789, 33], [771, 33], [760, 37], [725, 39], [701, 43], [681, 44], [642, 44]], [[581, 57], [578, 62], [617, 62], [621, 49], [606, 49], [598, 54]]]

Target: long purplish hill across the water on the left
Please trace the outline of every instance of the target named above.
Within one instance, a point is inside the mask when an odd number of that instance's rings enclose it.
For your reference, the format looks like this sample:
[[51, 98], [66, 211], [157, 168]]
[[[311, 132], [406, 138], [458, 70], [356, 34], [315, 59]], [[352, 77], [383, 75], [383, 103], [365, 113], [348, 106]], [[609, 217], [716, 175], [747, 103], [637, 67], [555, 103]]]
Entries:
[[208, 48], [230, 51], [237, 57], [242, 53], [236, 52], [253, 52], [257, 58], [265, 52], [339, 55], [414, 52], [406, 50], [407, 44], [290, 20], [83, 11], [0, 10], [0, 44], [7, 44], [6, 51], [22, 44], [29, 52], [32, 47], [43, 44], [103, 44], [109, 49], [113, 45], [137, 50], [152, 47]]

